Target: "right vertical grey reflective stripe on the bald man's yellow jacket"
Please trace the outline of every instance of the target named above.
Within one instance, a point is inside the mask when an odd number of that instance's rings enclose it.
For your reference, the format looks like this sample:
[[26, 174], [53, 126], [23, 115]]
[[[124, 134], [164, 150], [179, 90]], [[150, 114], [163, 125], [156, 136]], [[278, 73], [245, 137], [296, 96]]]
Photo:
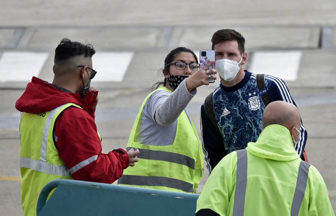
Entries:
[[301, 161], [299, 173], [297, 175], [296, 188], [291, 209], [291, 216], [299, 214], [301, 203], [304, 197], [305, 188], [307, 186], [308, 172], [311, 165]]

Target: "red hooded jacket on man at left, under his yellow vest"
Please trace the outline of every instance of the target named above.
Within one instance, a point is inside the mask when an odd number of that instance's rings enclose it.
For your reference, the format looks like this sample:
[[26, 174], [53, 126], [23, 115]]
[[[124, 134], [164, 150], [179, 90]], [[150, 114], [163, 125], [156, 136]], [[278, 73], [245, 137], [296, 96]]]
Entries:
[[98, 155], [96, 161], [72, 174], [73, 179], [112, 183], [128, 167], [129, 156], [124, 149], [102, 153], [100, 138], [95, 124], [95, 109], [91, 109], [98, 91], [85, 94], [68, 93], [55, 88], [37, 77], [33, 77], [15, 107], [20, 112], [41, 113], [50, 111], [66, 103], [82, 107], [66, 109], [57, 119], [55, 135], [57, 148], [68, 169]]

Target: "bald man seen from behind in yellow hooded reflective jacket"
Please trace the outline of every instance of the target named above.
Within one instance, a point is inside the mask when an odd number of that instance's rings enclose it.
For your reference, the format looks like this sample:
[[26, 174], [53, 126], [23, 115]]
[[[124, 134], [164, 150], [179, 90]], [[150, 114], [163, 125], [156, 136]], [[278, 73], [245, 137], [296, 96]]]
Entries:
[[195, 215], [334, 215], [323, 177], [293, 147], [300, 126], [294, 105], [270, 103], [258, 140], [218, 163], [198, 198]]

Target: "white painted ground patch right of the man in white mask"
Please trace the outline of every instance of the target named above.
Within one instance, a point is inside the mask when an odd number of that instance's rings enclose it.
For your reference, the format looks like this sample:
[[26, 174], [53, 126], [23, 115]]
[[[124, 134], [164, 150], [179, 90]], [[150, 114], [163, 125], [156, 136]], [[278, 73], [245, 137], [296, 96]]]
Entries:
[[283, 80], [295, 81], [299, 70], [302, 52], [255, 52], [250, 72], [269, 74]]

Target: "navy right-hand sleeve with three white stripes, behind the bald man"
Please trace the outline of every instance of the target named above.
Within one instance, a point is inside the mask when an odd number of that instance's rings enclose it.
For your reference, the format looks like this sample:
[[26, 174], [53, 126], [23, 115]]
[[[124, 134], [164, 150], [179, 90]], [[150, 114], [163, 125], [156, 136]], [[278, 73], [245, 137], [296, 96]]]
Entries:
[[[282, 79], [266, 75], [265, 81], [269, 99], [271, 101], [286, 101], [296, 106], [292, 96], [290, 95], [286, 83]], [[295, 150], [300, 157], [302, 157], [302, 153], [306, 142], [307, 142], [307, 131], [305, 130], [301, 119], [300, 139], [298, 143], [295, 145]]]

